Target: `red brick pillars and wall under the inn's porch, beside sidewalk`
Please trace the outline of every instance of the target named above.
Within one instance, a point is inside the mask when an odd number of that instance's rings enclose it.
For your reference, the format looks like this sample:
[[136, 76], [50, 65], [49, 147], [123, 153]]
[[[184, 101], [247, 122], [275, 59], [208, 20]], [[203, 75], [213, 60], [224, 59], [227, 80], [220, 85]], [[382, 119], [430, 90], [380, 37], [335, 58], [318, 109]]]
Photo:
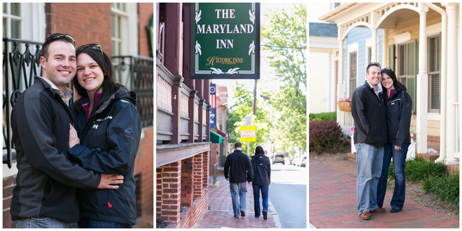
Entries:
[[156, 168], [156, 217], [170, 222], [168, 228], [192, 228], [208, 209], [208, 155]]

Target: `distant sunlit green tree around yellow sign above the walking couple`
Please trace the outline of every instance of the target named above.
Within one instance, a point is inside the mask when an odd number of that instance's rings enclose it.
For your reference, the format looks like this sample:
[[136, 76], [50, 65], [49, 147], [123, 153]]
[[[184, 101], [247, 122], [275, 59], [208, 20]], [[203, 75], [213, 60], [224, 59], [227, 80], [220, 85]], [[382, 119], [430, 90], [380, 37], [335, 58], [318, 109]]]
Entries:
[[[263, 103], [257, 106], [257, 114], [253, 115], [252, 111], [252, 91], [245, 89], [243, 84], [239, 84], [236, 81], [234, 88], [235, 98], [237, 102], [228, 108], [226, 132], [228, 133], [228, 142], [234, 144], [240, 142], [241, 133], [240, 128], [244, 126], [244, 117], [252, 117], [252, 125], [257, 126], [257, 142], [250, 142], [249, 153], [253, 156], [255, 148], [266, 142], [269, 136], [269, 123], [268, 123], [268, 112], [264, 109]], [[242, 142], [242, 151], [247, 153], [247, 142]]]

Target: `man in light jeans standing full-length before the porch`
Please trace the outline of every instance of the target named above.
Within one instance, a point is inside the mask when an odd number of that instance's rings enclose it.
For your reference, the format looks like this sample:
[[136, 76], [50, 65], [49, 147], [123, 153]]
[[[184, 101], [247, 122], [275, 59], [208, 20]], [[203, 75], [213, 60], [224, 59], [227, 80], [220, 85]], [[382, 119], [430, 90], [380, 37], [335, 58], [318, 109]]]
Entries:
[[379, 63], [366, 68], [366, 81], [353, 91], [351, 113], [355, 121], [356, 194], [359, 218], [371, 219], [369, 213], [384, 213], [377, 206], [377, 184], [382, 171], [383, 145], [387, 143], [385, 104], [378, 87], [382, 76]]

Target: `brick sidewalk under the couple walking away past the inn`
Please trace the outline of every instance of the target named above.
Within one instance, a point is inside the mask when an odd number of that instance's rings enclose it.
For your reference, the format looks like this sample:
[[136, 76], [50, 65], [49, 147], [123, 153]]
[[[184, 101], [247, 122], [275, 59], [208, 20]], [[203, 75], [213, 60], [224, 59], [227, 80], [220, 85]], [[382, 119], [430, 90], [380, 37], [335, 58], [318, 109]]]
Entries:
[[229, 182], [226, 181], [222, 174], [218, 176], [217, 181], [220, 181], [220, 187], [208, 188], [209, 210], [205, 212], [195, 228], [275, 228], [273, 215], [269, 208], [266, 221], [263, 220], [263, 215], [259, 218], [255, 217], [252, 185], [247, 184], [245, 217], [235, 218], [229, 192]]

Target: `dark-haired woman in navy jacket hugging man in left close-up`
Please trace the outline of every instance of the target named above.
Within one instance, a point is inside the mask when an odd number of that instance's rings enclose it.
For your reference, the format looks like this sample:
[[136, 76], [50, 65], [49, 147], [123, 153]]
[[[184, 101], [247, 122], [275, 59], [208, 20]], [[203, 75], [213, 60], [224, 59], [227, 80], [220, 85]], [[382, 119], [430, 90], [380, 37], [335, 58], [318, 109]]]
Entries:
[[114, 81], [109, 57], [98, 44], [76, 49], [73, 86], [77, 130], [70, 126], [69, 150], [85, 169], [124, 177], [118, 189], [78, 190], [81, 228], [132, 228], [136, 224], [134, 161], [141, 139], [137, 96]]

